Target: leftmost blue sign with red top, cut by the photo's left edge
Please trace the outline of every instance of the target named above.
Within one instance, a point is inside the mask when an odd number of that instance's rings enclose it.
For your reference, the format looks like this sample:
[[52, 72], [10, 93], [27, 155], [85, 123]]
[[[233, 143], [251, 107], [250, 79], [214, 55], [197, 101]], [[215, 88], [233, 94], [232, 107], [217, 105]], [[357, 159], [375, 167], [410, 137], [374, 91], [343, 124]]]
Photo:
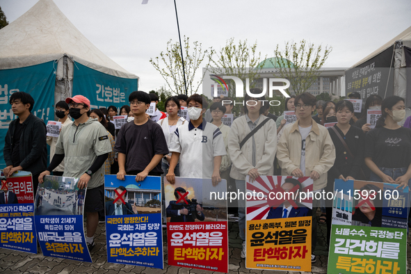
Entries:
[[0, 179], [0, 248], [36, 254], [31, 172], [19, 171]]

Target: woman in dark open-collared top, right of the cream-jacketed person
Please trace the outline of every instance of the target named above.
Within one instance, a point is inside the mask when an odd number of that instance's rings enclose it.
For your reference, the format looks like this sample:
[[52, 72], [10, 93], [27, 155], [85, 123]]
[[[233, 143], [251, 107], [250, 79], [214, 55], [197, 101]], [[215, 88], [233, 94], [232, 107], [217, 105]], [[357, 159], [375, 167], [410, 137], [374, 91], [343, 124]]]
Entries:
[[[334, 179], [344, 181], [360, 179], [362, 159], [364, 158], [364, 133], [350, 125], [354, 115], [353, 103], [347, 100], [339, 101], [336, 105], [337, 124], [328, 128], [332, 143], [335, 146], [334, 166], [328, 171], [328, 184], [325, 193], [334, 192]], [[330, 245], [332, 222], [332, 200], [325, 200], [327, 211], [327, 243]]]

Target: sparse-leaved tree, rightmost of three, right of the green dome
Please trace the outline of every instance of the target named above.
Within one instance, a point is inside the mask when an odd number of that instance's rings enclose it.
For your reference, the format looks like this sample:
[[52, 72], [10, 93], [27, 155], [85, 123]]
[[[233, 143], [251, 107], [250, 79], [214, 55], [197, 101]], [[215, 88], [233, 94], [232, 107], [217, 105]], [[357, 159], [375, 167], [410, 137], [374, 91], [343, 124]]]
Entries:
[[313, 43], [301, 40], [296, 42], [286, 42], [283, 50], [279, 46], [275, 48], [278, 72], [282, 78], [290, 81], [289, 90], [293, 90], [299, 95], [307, 90], [314, 81], [317, 80], [320, 69], [327, 60], [332, 47], [316, 47]]

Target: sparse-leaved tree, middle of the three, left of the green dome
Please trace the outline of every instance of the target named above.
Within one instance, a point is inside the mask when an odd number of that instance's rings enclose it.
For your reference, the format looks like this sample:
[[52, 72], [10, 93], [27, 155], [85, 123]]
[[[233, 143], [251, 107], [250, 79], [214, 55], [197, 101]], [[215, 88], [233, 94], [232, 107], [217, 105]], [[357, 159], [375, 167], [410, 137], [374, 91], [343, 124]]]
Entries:
[[[229, 38], [225, 47], [221, 48], [211, 59], [210, 70], [213, 74], [237, 76], [243, 80], [243, 83], [248, 78], [250, 79], [250, 88], [254, 88], [257, 79], [259, 79], [259, 72], [264, 67], [264, 62], [262, 62], [264, 59], [261, 58], [261, 52], [257, 52], [257, 41], [248, 45], [247, 40], [239, 40], [236, 45], [234, 38]], [[234, 97], [234, 81], [231, 79], [225, 81], [229, 97]]]

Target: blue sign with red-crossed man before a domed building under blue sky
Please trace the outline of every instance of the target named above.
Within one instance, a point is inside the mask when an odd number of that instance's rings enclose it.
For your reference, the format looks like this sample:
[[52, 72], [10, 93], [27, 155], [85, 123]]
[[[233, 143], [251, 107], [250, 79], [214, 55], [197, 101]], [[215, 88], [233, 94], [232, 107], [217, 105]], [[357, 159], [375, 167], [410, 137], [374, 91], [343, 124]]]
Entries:
[[104, 176], [107, 261], [163, 269], [161, 177]]

